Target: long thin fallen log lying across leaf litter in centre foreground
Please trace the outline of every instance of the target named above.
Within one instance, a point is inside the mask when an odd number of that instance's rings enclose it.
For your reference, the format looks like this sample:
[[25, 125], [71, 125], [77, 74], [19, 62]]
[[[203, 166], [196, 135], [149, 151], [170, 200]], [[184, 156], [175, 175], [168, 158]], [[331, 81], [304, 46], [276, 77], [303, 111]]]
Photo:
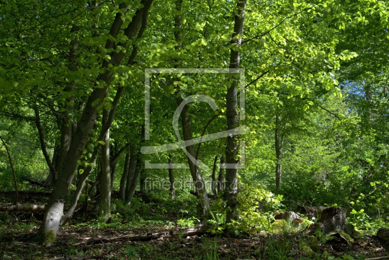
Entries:
[[[124, 236], [118, 236], [118, 237], [111, 237], [111, 238], [101, 238], [92, 240], [90, 238], [85, 238], [84, 240], [86, 244], [94, 244], [94, 243], [104, 243], [104, 242], [110, 242], [110, 241], [119, 241], [119, 240], [138, 240], [138, 241], [148, 241], [153, 239], [159, 239], [159, 238], [168, 238], [168, 237], [177, 237], [178, 235], [182, 237], [188, 237], [188, 236], [194, 236], [199, 234], [204, 234], [207, 232], [207, 230], [211, 227], [211, 224], [201, 224], [195, 227], [189, 227], [185, 229], [180, 229], [176, 232], [170, 232], [169, 234], [164, 233], [155, 233], [150, 235], [137, 235], [137, 234], [131, 234], [131, 235], [124, 235]], [[79, 242], [77, 244], [82, 244], [84, 242]], [[76, 244], [76, 245], [77, 245]]]

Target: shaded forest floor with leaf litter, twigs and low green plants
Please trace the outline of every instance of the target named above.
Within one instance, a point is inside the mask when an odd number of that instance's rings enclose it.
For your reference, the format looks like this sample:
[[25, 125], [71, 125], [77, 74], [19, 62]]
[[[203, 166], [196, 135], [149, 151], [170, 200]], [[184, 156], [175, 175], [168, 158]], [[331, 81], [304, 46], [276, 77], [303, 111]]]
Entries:
[[[27, 193], [26, 193], [27, 194]], [[43, 196], [42, 196], [43, 195]], [[23, 196], [23, 195], [22, 195]], [[47, 194], [25, 195], [31, 203], [43, 202]], [[0, 200], [8, 201], [8, 193], [0, 193]], [[173, 211], [156, 202], [136, 202], [132, 216], [119, 204], [114, 204], [116, 215], [111, 223], [101, 223], [79, 214], [71, 223], [60, 229], [57, 240], [50, 247], [32, 242], [43, 213], [2, 212], [0, 214], [0, 259], [159, 259], [159, 260], [216, 260], [216, 259], [369, 259], [389, 255], [388, 244], [372, 235], [361, 235], [350, 243], [328, 241], [318, 243], [316, 252], [308, 252], [304, 245], [308, 237], [296, 232], [280, 232], [243, 235], [237, 238], [228, 235], [168, 236], [179, 227], [178, 218], [188, 214], [181, 209]], [[178, 204], [177, 204], [178, 205]], [[177, 206], [176, 205], [176, 206]], [[115, 209], [115, 207], [117, 207]], [[182, 212], [182, 213], [180, 213]], [[178, 214], [177, 214], [178, 213]], [[93, 216], [92, 216], [93, 217]], [[154, 218], [154, 219], [153, 219]], [[122, 238], [130, 234], [160, 237], [147, 241], [128, 241]], [[281, 234], [282, 233], [282, 234]]]

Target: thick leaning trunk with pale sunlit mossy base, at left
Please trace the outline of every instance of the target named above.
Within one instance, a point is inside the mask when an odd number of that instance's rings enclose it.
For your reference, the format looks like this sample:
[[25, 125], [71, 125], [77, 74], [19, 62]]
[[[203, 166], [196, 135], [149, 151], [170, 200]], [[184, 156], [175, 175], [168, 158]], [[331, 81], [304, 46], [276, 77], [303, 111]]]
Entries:
[[[152, 4], [152, 1], [153, 0], [141, 0], [141, 6], [143, 7], [135, 12], [135, 15], [131, 19], [131, 22], [124, 29], [124, 35], [129, 40], [132, 40], [133, 37], [137, 34], [139, 28], [141, 27], [142, 20], [144, 20], [144, 18], [147, 18], [148, 10]], [[128, 9], [124, 2], [119, 5], [119, 8], [123, 9], [124, 11]], [[109, 31], [109, 35], [112, 38], [116, 38], [118, 36], [123, 21], [124, 19], [122, 19], [122, 13], [118, 12]], [[106, 49], [115, 49], [115, 41], [112, 40], [111, 37], [109, 37], [106, 41]], [[124, 46], [122, 47], [124, 47], [124, 50], [126, 50], [127, 47], [125, 46], [125, 44], [123, 45]], [[117, 64], [119, 64], [124, 57], [124, 52], [112, 52], [109, 55], [111, 56], [111, 60], [103, 61], [101, 68], [104, 72], [100, 74], [96, 80], [96, 82], [104, 81], [106, 84], [100, 84], [100, 86], [103, 86], [102, 88], [95, 87], [93, 89], [93, 92], [90, 94], [87, 103], [85, 104], [81, 119], [77, 123], [77, 129], [75, 130], [75, 134], [71, 138], [69, 150], [65, 156], [63, 164], [60, 166], [60, 173], [58, 174], [57, 181], [55, 182], [55, 185], [53, 187], [53, 193], [47, 204], [42, 224], [35, 237], [35, 241], [42, 242], [46, 246], [50, 246], [53, 241], [55, 241], [61, 223], [65, 222], [64, 220], [62, 220], [62, 218], [64, 217], [63, 209], [67, 196], [69, 194], [71, 181], [73, 180], [74, 172], [77, 168], [78, 161], [81, 158], [82, 152], [85, 148], [88, 137], [94, 125], [94, 121], [98, 112], [97, 108], [101, 105], [103, 98], [106, 94], [107, 87], [111, 82], [113, 76], [108, 65], [112, 64], [116, 66]], [[83, 174], [81, 176], [83, 176]], [[83, 179], [86, 180], [87, 177]], [[82, 185], [80, 184], [81, 190], [85, 184], [85, 180], [83, 181]], [[77, 190], [74, 195], [75, 197], [79, 196], [79, 194], [81, 193], [81, 190]], [[78, 197], [75, 199], [75, 203], [73, 203], [72, 201], [71, 206], [75, 208], [77, 201]], [[67, 218], [70, 218], [72, 213], [68, 213]]]

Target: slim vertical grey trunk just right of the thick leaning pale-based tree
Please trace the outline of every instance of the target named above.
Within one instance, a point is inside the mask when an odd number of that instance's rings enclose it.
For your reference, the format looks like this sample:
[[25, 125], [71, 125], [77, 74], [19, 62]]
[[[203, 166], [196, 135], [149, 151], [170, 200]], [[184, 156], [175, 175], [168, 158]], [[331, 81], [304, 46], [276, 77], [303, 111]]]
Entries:
[[[106, 95], [107, 96], [107, 95]], [[102, 126], [108, 121], [109, 110], [103, 110], [103, 122]], [[100, 205], [99, 205], [99, 217], [104, 218], [106, 221], [111, 214], [111, 170], [109, 167], [109, 129], [106, 131], [104, 138], [104, 145], [101, 149], [101, 170], [99, 176], [99, 190], [100, 190]]]

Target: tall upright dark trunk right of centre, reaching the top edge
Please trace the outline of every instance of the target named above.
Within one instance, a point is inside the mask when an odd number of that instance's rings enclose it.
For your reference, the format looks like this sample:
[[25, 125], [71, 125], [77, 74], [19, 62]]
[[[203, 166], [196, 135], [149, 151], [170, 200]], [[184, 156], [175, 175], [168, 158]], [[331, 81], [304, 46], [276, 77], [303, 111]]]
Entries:
[[[232, 34], [231, 44], [236, 44], [236, 47], [231, 48], [230, 53], [230, 69], [239, 68], [240, 53], [239, 46], [242, 42], [243, 27], [245, 25], [245, 11], [247, 0], [237, 1], [237, 14], [234, 20], [234, 32]], [[227, 90], [226, 105], [227, 105], [227, 130], [234, 129], [239, 126], [238, 121], [238, 99], [237, 99], [237, 81], [233, 76], [233, 81], [230, 88]], [[227, 206], [231, 210], [227, 211], [227, 223], [237, 218], [235, 208], [238, 206], [238, 155], [239, 143], [235, 135], [227, 137], [226, 146], [226, 163], [229, 167], [226, 168], [226, 194], [225, 200]]]

